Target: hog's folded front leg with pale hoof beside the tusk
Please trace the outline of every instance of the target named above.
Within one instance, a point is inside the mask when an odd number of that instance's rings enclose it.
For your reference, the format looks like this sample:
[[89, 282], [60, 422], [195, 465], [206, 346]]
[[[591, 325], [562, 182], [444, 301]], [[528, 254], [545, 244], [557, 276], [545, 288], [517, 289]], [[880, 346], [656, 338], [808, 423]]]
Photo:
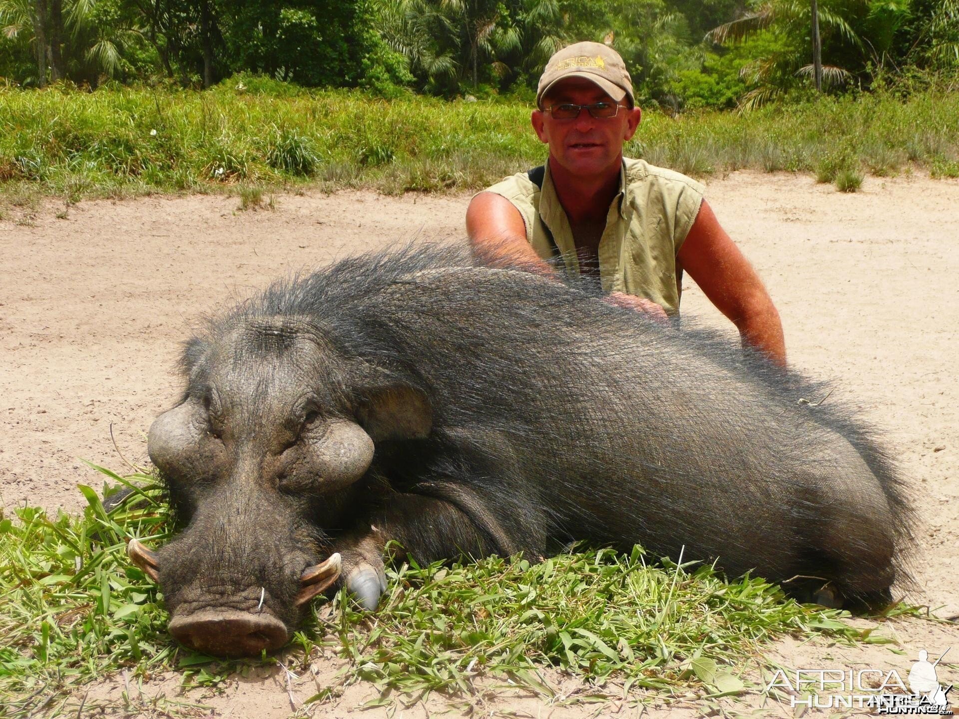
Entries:
[[[501, 536], [496, 537], [498, 534]], [[383, 553], [390, 541], [401, 547], [397, 559], [412, 556], [423, 564], [461, 554], [485, 557], [515, 550], [498, 526], [494, 524], [489, 530], [481, 527], [450, 501], [391, 495], [388, 506], [371, 513], [360, 528], [335, 544], [342, 557], [341, 581], [366, 610], [376, 609], [380, 595], [386, 591]]]

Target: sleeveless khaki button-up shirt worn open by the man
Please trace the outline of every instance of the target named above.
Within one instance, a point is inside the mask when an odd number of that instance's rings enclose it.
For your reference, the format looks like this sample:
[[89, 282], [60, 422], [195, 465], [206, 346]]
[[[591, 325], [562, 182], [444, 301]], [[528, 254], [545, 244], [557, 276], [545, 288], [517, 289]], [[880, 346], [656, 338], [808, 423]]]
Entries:
[[[704, 190], [685, 174], [623, 158], [620, 192], [609, 207], [599, 240], [602, 289], [646, 297], [668, 314], [678, 313], [681, 288], [677, 276], [682, 270], [677, 267], [676, 254], [699, 213]], [[505, 197], [520, 211], [526, 222], [526, 240], [541, 258], [554, 256], [554, 243], [567, 271], [579, 273], [573, 231], [556, 197], [549, 163], [542, 191], [526, 173], [519, 173], [486, 192]]]

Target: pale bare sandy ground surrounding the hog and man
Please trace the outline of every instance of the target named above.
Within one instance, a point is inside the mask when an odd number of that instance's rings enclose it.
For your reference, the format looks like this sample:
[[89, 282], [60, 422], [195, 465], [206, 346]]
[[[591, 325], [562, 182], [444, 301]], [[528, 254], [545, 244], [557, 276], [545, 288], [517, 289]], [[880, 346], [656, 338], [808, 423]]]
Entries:
[[[910, 599], [959, 615], [959, 182], [868, 178], [860, 193], [842, 195], [807, 176], [737, 173], [713, 178], [708, 197], [782, 314], [790, 362], [837, 380], [830, 401], [863, 406], [887, 429], [921, 518], [922, 593]], [[12, 208], [0, 220], [0, 502], [81, 507], [76, 484], [100, 484], [81, 458], [123, 469], [111, 425], [124, 455], [145, 462], [152, 417], [179, 390], [179, 342], [203, 313], [344, 255], [412, 238], [458, 241], [467, 201], [308, 193], [277, 197], [275, 211], [239, 212], [235, 197], [151, 197], [83, 202], [66, 219], [54, 203]], [[732, 332], [691, 283], [683, 309]], [[959, 661], [956, 625], [910, 619], [887, 628], [905, 655], [788, 641], [773, 651], [787, 666], [907, 670], [920, 648], [938, 656], [955, 645], [948, 660]], [[955, 665], [946, 678], [959, 683]], [[309, 674], [298, 682], [299, 699], [316, 692]], [[207, 704], [217, 716], [287, 716], [283, 684], [276, 672], [238, 680]], [[144, 691], [172, 696], [175, 682]], [[353, 687], [316, 716], [346, 716], [369, 691]], [[480, 704], [479, 714], [588, 713], [529, 699]]]

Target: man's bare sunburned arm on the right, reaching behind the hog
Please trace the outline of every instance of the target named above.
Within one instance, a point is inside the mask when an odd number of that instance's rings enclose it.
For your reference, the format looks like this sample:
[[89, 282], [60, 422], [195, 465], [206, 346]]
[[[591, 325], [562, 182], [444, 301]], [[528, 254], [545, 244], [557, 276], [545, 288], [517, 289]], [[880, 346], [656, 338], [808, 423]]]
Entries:
[[703, 200], [677, 259], [744, 342], [785, 366], [783, 323], [756, 270]]

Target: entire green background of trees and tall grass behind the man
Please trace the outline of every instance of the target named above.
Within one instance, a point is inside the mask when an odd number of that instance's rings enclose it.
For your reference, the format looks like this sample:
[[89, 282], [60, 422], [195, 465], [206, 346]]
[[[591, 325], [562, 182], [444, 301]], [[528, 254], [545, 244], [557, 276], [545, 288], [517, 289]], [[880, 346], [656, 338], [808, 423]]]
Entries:
[[0, 0], [0, 195], [476, 190], [542, 163], [535, 84], [580, 39], [625, 59], [653, 164], [959, 174], [959, 0], [818, 18], [823, 93], [795, 0]]

